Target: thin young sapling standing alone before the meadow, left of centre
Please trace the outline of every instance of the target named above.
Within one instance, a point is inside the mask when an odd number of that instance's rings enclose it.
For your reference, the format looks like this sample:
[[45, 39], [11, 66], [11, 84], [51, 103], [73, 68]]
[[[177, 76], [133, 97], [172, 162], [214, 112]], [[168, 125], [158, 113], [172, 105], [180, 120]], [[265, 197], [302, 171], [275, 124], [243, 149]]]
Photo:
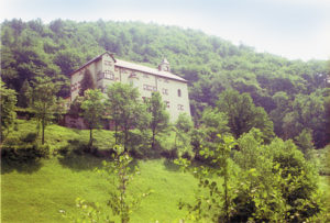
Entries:
[[[102, 161], [103, 167], [97, 169], [107, 179], [111, 188], [107, 204], [88, 203], [78, 198], [76, 205], [82, 211], [82, 214], [78, 218], [69, 216], [73, 222], [84, 222], [86, 220], [90, 222], [114, 222], [113, 219], [116, 216], [119, 216], [122, 223], [130, 222], [133, 210], [140, 205], [143, 198], [150, 194], [150, 192], [134, 196], [129, 193], [128, 187], [139, 172], [139, 168], [136, 166], [131, 168], [130, 164], [133, 159], [124, 152], [122, 146], [117, 145], [113, 150], [113, 161], [105, 160]], [[109, 214], [106, 207], [110, 208], [112, 214]], [[65, 212], [64, 216], [67, 216]]]

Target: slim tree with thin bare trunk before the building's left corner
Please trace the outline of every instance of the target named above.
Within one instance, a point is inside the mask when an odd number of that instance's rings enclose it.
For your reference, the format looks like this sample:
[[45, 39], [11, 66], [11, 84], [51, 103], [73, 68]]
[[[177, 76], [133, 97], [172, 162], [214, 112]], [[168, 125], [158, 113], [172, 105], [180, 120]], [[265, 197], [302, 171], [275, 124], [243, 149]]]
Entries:
[[89, 134], [89, 146], [92, 147], [92, 130], [99, 127], [101, 118], [105, 113], [103, 94], [100, 90], [86, 90], [82, 99], [81, 109], [84, 120], [87, 122]]

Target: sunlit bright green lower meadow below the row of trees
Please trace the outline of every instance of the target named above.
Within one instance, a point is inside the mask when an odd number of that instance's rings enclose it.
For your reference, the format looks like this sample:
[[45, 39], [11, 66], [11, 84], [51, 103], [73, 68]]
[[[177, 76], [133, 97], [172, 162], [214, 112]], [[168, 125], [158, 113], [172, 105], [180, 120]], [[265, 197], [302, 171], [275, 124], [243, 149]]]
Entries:
[[[43, 160], [40, 169], [2, 174], [2, 222], [63, 222], [59, 210], [74, 214], [76, 198], [105, 203], [108, 182], [92, 169], [100, 166], [95, 157], [76, 157], [74, 165], [57, 158]], [[138, 163], [141, 175], [134, 178], [130, 190], [143, 192], [152, 189], [140, 209], [133, 212], [132, 222], [173, 222], [185, 216], [178, 210], [182, 198], [194, 200], [196, 179], [180, 172], [164, 159]], [[4, 167], [6, 168], [6, 167]]]

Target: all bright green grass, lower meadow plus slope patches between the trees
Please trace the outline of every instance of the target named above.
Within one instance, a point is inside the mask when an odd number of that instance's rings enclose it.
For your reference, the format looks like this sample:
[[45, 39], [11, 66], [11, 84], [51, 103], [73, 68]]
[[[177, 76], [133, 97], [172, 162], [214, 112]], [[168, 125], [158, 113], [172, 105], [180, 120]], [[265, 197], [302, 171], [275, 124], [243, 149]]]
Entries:
[[[35, 122], [19, 120], [16, 131], [10, 136], [20, 137], [35, 131]], [[114, 142], [110, 131], [97, 130], [95, 137], [100, 149], [109, 148]], [[51, 146], [51, 158], [31, 164], [2, 163], [1, 222], [68, 222], [59, 210], [68, 215], [81, 213], [76, 208], [77, 198], [106, 207], [111, 186], [95, 171], [102, 166], [102, 158], [53, 153], [68, 145], [69, 140], [87, 143], [88, 138], [87, 130], [50, 125], [45, 140]], [[178, 202], [179, 199], [194, 201], [197, 180], [166, 159], [139, 160], [134, 165], [139, 166], [140, 175], [134, 177], [129, 190], [133, 194], [153, 192], [133, 211], [132, 222], [178, 222], [185, 218], [186, 212], [178, 210]]]

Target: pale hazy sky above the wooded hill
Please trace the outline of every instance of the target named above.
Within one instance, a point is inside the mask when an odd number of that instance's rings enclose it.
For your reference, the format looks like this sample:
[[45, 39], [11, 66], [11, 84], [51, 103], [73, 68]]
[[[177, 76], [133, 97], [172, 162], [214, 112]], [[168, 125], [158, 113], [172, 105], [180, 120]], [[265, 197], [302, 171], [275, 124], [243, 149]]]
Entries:
[[0, 22], [13, 18], [177, 25], [288, 59], [330, 59], [330, 0], [0, 0]]

